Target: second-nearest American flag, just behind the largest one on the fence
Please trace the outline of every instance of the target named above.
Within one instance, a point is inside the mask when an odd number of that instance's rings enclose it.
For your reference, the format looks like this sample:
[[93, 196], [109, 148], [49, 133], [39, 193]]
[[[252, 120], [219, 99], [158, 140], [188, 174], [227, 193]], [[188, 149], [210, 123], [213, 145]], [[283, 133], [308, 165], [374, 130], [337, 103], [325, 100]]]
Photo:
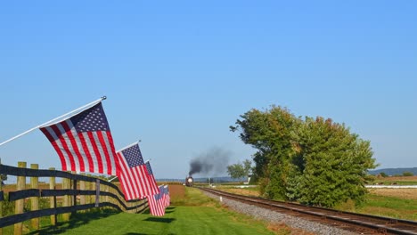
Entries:
[[[138, 143], [131, 144], [118, 151], [120, 170], [118, 173], [125, 199], [143, 199], [148, 195], [159, 193], [158, 185], [149, 173], [149, 164], [143, 163]], [[150, 166], [151, 167], [151, 166]]]

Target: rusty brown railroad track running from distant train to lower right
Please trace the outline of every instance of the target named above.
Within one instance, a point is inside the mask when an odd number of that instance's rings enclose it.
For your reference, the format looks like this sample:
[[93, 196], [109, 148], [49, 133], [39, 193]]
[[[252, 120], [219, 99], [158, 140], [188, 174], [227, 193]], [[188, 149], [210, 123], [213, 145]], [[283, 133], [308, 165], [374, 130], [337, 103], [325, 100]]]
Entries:
[[308, 207], [296, 203], [237, 195], [208, 188], [200, 188], [200, 190], [208, 191], [226, 199], [234, 199], [246, 204], [265, 207], [287, 215], [302, 217], [309, 221], [325, 223], [360, 234], [417, 234], [417, 222], [413, 221], [350, 213], [323, 207]]

